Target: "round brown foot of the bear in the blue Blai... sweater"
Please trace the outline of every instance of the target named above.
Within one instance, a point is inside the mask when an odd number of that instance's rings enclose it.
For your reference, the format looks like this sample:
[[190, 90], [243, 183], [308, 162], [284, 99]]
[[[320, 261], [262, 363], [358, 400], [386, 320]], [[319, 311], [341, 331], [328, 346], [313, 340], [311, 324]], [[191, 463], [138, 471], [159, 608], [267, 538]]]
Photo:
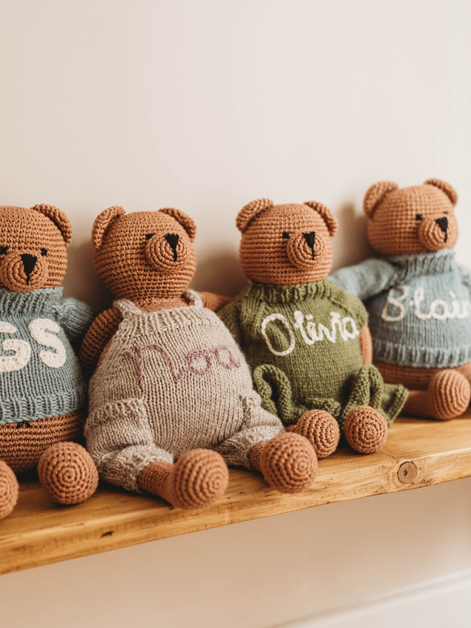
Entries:
[[471, 399], [471, 385], [456, 370], [440, 370], [432, 376], [428, 388], [430, 415], [435, 419], [453, 419], [465, 412]]

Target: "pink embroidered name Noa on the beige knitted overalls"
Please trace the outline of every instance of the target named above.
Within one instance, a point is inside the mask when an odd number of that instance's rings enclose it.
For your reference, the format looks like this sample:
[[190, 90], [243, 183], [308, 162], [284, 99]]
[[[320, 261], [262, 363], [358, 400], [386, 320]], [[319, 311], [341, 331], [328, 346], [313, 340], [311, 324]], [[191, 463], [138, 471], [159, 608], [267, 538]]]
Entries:
[[[186, 368], [183, 367], [180, 370], [177, 370], [176, 365], [173, 362], [171, 353], [169, 353], [168, 350], [162, 345], [142, 345], [141, 347], [133, 347], [132, 349], [128, 350], [128, 355], [130, 355], [131, 358], [136, 357], [139, 388], [143, 389], [144, 387], [142, 354], [144, 351], [149, 349], [156, 350], [163, 355], [168, 370], [170, 371], [173, 381], [176, 384], [178, 384], [178, 382], [185, 377]], [[227, 355], [225, 355], [225, 352]], [[195, 375], [206, 375], [207, 373], [210, 373], [211, 370], [213, 370], [215, 358], [216, 362], [224, 368], [240, 368], [240, 362], [238, 362], [238, 360], [234, 358], [231, 350], [229, 350], [226, 345], [219, 345], [218, 347], [214, 347], [213, 349], [197, 349], [188, 353], [188, 355], [186, 356], [188, 370]]]

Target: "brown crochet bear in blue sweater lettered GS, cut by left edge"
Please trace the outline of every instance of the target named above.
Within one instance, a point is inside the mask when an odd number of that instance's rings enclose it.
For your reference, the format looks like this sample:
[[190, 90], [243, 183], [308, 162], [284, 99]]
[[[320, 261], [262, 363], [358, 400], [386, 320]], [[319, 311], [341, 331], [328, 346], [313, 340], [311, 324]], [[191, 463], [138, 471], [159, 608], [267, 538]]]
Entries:
[[16, 473], [34, 469], [56, 502], [86, 500], [96, 467], [74, 442], [86, 385], [75, 351], [88, 305], [61, 299], [72, 230], [49, 206], [0, 207], [0, 519], [16, 505]]

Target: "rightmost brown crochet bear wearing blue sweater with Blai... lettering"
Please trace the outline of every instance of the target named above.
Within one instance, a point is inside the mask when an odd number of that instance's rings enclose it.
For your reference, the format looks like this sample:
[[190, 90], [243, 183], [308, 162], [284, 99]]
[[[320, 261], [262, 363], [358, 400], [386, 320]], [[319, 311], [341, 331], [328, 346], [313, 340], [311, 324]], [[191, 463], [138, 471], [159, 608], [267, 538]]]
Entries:
[[471, 397], [470, 270], [453, 250], [457, 193], [445, 181], [399, 189], [371, 186], [363, 209], [380, 258], [332, 279], [365, 300], [375, 365], [385, 381], [411, 389], [404, 410], [450, 419]]

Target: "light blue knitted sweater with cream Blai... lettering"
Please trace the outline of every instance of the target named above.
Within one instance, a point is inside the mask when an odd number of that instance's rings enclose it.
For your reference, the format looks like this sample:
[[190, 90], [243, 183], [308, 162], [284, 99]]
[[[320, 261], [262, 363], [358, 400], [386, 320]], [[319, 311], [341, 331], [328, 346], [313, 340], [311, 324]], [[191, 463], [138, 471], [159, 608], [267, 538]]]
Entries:
[[471, 361], [471, 275], [454, 250], [367, 260], [331, 279], [365, 300], [375, 360], [429, 368]]

